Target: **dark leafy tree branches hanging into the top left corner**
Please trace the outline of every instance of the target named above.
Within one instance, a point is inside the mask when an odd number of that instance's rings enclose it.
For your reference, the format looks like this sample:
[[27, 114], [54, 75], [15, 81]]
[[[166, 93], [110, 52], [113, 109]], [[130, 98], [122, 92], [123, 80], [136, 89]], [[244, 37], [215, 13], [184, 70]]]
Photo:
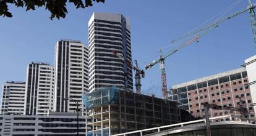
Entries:
[[[74, 3], [76, 8], [85, 8], [93, 6], [92, 2], [105, 2], [105, 0], [69, 0]], [[0, 0], [0, 15], [2, 17], [12, 17], [12, 13], [9, 12], [7, 4], [14, 4], [16, 7], [26, 7], [27, 10], [35, 10], [37, 7], [45, 7], [46, 10], [51, 12], [51, 20], [56, 18], [65, 18], [67, 14], [66, 8], [67, 0]]]

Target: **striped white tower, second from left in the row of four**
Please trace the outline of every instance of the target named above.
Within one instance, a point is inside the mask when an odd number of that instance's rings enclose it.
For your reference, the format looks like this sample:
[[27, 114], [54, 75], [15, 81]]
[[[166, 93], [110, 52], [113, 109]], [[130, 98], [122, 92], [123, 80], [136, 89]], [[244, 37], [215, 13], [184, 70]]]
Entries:
[[54, 108], [54, 68], [49, 63], [27, 66], [25, 114], [46, 115]]

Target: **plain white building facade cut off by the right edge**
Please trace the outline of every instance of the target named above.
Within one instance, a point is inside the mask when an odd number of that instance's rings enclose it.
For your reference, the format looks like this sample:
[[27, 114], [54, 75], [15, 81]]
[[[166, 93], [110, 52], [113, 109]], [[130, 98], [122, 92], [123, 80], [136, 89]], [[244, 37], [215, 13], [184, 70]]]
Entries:
[[[252, 103], [256, 103], [256, 55], [247, 58], [244, 62], [248, 74], [250, 91], [252, 93]], [[256, 106], [254, 106], [254, 108], [256, 108]]]

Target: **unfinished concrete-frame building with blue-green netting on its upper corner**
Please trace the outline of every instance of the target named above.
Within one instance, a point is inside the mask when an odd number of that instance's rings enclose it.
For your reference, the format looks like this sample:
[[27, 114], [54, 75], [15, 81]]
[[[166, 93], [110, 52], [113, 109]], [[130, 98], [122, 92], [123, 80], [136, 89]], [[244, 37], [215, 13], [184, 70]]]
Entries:
[[176, 102], [119, 90], [97, 89], [83, 95], [87, 135], [113, 135], [181, 121]]

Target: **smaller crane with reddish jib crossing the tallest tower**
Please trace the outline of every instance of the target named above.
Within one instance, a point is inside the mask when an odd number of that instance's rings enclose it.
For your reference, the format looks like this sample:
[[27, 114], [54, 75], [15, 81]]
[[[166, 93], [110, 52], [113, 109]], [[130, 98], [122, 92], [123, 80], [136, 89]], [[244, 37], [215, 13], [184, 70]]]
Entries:
[[136, 87], [136, 93], [140, 94], [142, 84], [140, 82], [141, 78], [145, 78], [145, 72], [143, 70], [140, 70], [139, 63], [137, 60], [134, 60], [135, 66], [132, 65], [132, 62], [130, 62], [127, 59], [124, 59], [122, 55], [118, 54], [116, 50], [112, 51], [114, 55], [116, 55], [118, 58], [120, 58], [124, 63], [126, 63], [129, 66], [132, 66], [132, 69], [135, 71], [135, 87]]

